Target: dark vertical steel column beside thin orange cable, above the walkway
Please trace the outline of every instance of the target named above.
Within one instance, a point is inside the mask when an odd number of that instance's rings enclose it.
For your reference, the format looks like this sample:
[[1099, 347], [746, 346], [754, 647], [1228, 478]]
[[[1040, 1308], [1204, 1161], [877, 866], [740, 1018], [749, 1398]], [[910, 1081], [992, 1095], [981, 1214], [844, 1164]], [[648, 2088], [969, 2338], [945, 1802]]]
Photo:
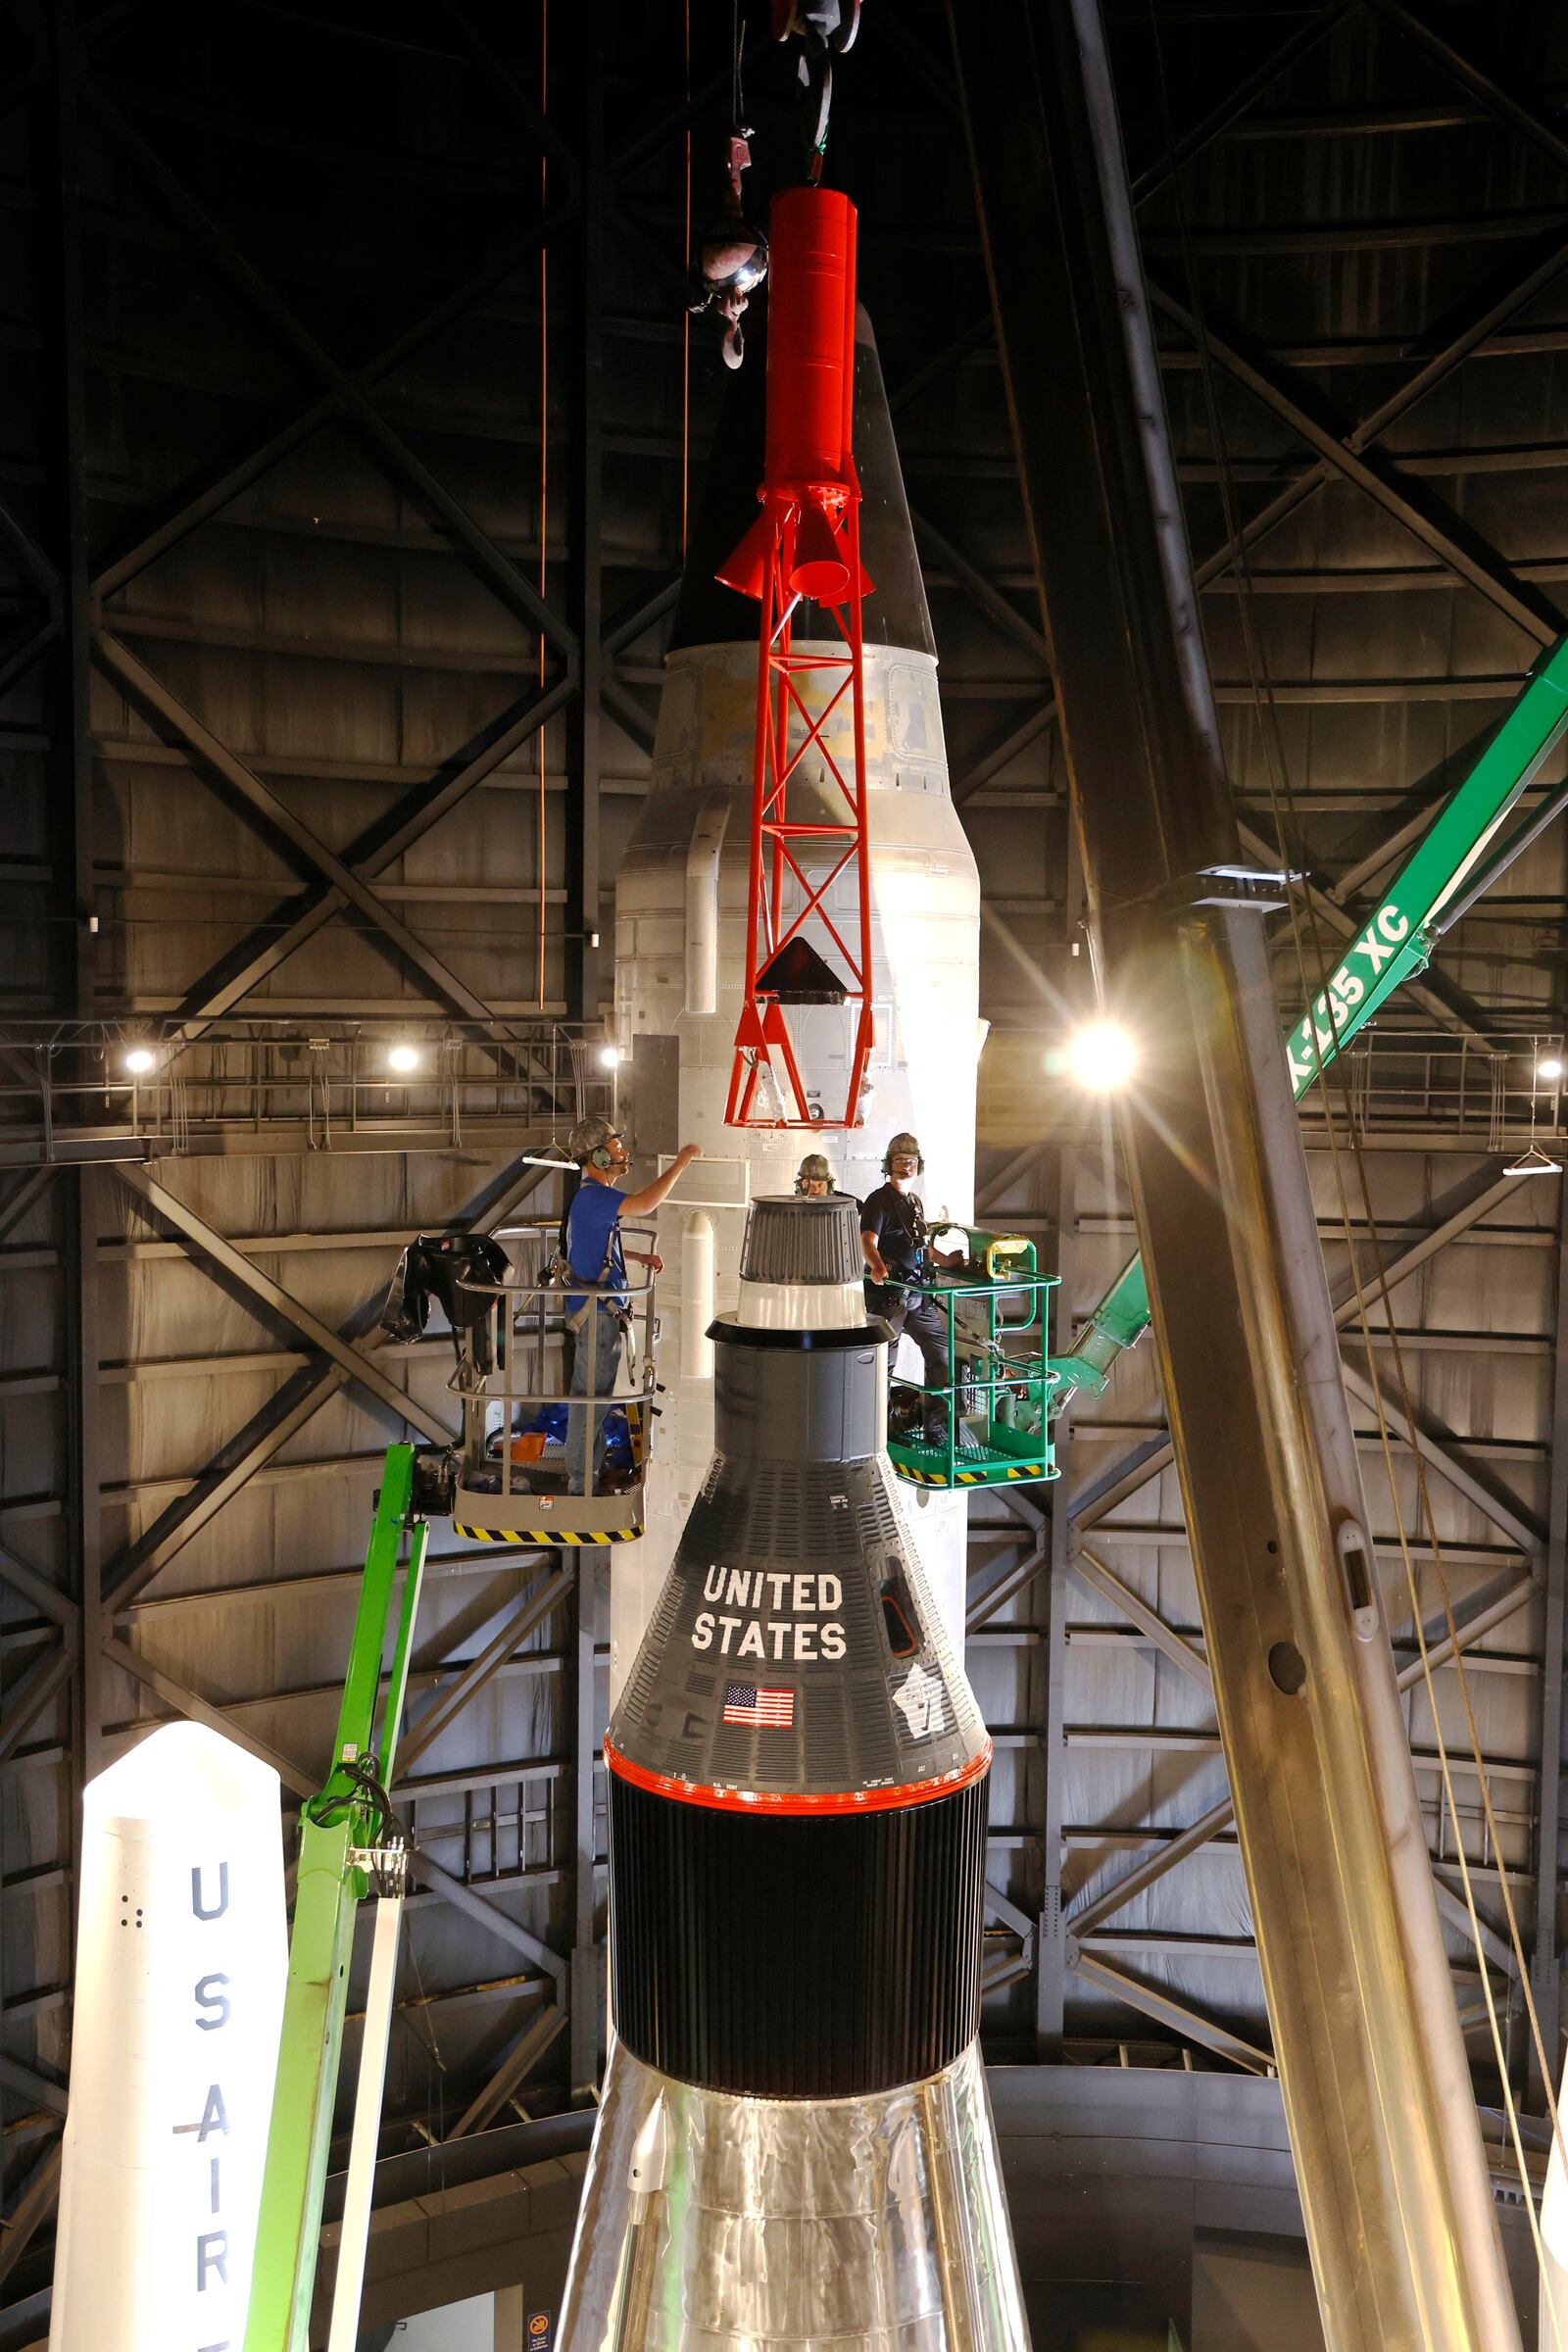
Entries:
[[567, 1009], [595, 1021], [604, 985], [599, 936], [599, 771], [604, 687], [604, 64], [592, 16], [583, 16], [583, 195], [576, 287], [576, 452], [571, 482], [571, 612], [581, 644], [578, 694], [567, 739]]

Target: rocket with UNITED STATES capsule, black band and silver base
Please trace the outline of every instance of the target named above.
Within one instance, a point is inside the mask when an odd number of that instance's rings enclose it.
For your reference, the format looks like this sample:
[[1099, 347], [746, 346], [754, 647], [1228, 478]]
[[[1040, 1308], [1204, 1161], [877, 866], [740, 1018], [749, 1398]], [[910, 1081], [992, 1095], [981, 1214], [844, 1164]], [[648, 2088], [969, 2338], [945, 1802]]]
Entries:
[[611, 2049], [562, 2352], [1023, 2352], [978, 2056], [990, 1738], [886, 1461], [851, 1200], [757, 1200], [604, 1738]]

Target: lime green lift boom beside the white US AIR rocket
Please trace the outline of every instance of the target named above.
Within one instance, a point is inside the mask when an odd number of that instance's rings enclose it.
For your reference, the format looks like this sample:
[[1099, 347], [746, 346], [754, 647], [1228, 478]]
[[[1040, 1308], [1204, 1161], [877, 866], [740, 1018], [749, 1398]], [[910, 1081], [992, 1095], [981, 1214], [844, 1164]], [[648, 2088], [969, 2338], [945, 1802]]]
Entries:
[[[360, 1856], [376, 1849], [390, 1828], [383, 1795], [393, 1785], [425, 1569], [428, 1529], [416, 1517], [414, 1494], [414, 1446], [390, 1446], [360, 1585], [334, 1762], [327, 1785], [320, 1797], [308, 1799], [299, 1820], [289, 1990], [277, 2046], [244, 2352], [310, 2347], [310, 2296], [322, 2237], [348, 1966], [355, 1912], [369, 1893], [369, 1872]], [[397, 1555], [404, 1531], [409, 1564], [397, 1604]], [[381, 1708], [381, 1661], [393, 1613], [397, 1630]], [[378, 1715], [381, 1733], [376, 1733]]]

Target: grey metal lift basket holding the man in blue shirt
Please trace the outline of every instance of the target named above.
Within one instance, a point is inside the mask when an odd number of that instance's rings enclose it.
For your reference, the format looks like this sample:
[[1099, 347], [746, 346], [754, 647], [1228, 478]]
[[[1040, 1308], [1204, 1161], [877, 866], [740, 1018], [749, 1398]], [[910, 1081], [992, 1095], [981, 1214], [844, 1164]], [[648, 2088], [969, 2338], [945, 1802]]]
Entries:
[[[508, 1244], [512, 1272], [505, 1282], [463, 1282], [468, 1298], [482, 1301], [480, 1317], [458, 1338], [458, 1369], [451, 1388], [463, 1402], [463, 1449], [458, 1486], [484, 1496], [569, 1494], [592, 1498], [607, 1491], [595, 1477], [595, 1432], [611, 1428], [611, 1414], [625, 1416], [632, 1458], [630, 1484], [642, 1484], [654, 1437], [654, 1343], [658, 1338], [656, 1287], [646, 1270], [642, 1282], [611, 1289], [604, 1282], [555, 1282], [559, 1223], [529, 1218], [503, 1225], [496, 1235]], [[621, 1223], [621, 1247], [646, 1242], [654, 1251], [654, 1225]], [[630, 1256], [630, 1251], [628, 1251]], [[581, 1298], [588, 1317], [571, 1331], [569, 1301]], [[597, 1350], [592, 1319], [623, 1317], [625, 1331], [616, 1355], [611, 1388], [597, 1388]], [[567, 1371], [569, 1350], [588, 1348], [585, 1385]], [[564, 1423], [559, 1437], [552, 1423]], [[583, 1416], [583, 1482], [564, 1475], [574, 1416]], [[538, 1439], [538, 1444], [536, 1444]], [[559, 1454], [552, 1456], [552, 1446]], [[543, 1482], [550, 1484], [543, 1484]]]

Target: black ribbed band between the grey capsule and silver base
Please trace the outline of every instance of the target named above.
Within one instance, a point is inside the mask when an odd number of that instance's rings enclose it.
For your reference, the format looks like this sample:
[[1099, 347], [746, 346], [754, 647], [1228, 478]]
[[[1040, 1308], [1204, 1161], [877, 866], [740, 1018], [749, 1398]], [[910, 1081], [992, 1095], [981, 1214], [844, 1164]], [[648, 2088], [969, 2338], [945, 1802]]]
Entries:
[[952, 2065], [980, 2025], [987, 1780], [905, 1811], [778, 1820], [611, 1773], [625, 2046], [741, 2098], [856, 2098]]

